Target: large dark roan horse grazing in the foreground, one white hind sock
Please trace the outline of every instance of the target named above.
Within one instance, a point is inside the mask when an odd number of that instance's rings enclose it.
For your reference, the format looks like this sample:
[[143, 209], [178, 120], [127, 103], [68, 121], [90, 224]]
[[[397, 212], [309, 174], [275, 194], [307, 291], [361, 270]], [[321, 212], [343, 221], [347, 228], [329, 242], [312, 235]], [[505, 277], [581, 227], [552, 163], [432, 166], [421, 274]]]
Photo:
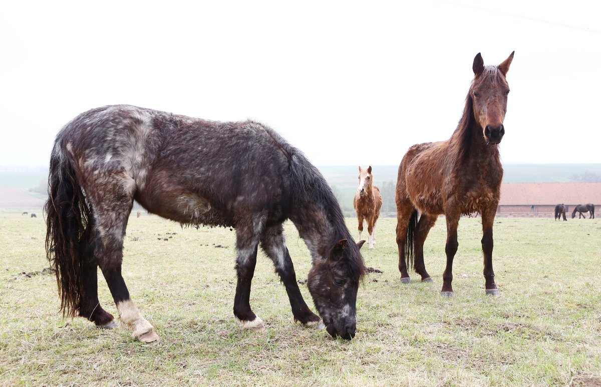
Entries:
[[307, 244], [307, 286], [332, 337], [355, 335], [356, 295], [365, 266], [337, 199], [319, 170], [278, 133], [257, 122], [215, 122], [135, 106], [82, 113], [56, 137], [46, 203], [47, 257], [56, 269], [61, 310], [100, 328], [113, 316], [97, 295], [97, 266], [121, 323], [140, 341], [158, 340], [121, 275], [133, 200], [182, 224], [236, 229], [234, 316], [263, 330], [251, 310], [257, 249], [273, 260], [294, 320], [318, 325], [305, 304], [285, 245], [288, 218]]

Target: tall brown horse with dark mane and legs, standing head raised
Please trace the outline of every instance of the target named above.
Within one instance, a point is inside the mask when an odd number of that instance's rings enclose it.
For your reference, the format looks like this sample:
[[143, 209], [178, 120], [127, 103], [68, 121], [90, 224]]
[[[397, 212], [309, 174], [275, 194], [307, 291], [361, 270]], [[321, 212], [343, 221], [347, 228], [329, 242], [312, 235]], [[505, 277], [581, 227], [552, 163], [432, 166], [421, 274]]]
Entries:
[[497, 145], [505, 134], [503, 120], [509, 93], [505, 74], [512, 59], [513, 52], [498, 66], [484, 66], [478, 53], [463, 116], [451, 138], [411, 146], [398, 167], [395, 199], [401, 283], [410, 281], [410, 264], [422, 281], [433, 282], [424, 265], [424, 241], [438, 215], [445, 214], [447, 266], [441, 295], [452, 296], [453, 258], [459, 246], [457, 224], [462, 214], [478, 211], [482, 218], [486, 294], [499, 294], [492, 268], [492, 227], [501, 196], [503, 169]]

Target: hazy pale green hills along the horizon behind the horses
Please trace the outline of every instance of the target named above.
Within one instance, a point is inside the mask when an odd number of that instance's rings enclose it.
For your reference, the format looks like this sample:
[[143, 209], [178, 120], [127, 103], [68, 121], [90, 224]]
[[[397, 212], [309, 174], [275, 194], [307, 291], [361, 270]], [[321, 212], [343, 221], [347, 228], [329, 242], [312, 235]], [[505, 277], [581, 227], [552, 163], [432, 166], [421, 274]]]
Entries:
[[[398, 165], [372, 166], [374, 182], [380, 187], [383, 197], [382, 215], [394, 215], [394, 188], [397, 184]], [[601, 182], [601, 164], [505, 164], [504, 183], [543, 183], [543, 182]], [[354, 216], [353, 197], [358, 181], [358, 166], [322, 166], [319, 167], [332, 190], [338, 197], [340, 205], [347, 216]], [[46, 187], [47, 167], [2, 167], [0, 166], [0, 190], [22, 188], [24, 199], [29, 196], [40, 196]], [[36, 193], [37, 191], [37, 193]], [[8, 194], [8, 192], [7, 192]], [[4, 196], [5, 198], [7, 196]], [[14, 202], [14, 190], [10, 191], [9, 200], [0, 202], [0, 209], [29, 208], [29, 205]], [[0, 199], [2, 194], [0, 192]]]

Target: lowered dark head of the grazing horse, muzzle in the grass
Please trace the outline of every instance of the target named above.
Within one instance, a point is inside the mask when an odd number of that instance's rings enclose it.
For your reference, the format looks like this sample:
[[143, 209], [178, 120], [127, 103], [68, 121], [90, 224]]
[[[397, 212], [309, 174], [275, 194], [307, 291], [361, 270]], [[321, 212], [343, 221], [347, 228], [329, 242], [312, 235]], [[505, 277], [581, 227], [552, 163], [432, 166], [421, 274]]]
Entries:
[[364, 242], [341, 239], [309, 271], [307, 286], [332, 337], [355, 337], [357, 290], [365, 273], [359, 248]]

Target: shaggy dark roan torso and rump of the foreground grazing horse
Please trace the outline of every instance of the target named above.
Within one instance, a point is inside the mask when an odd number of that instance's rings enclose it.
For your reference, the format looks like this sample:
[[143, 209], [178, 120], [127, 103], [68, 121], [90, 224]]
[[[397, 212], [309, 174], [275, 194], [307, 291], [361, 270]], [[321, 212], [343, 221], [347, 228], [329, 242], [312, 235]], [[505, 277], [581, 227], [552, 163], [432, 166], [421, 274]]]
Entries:
[[57, 143], [92, 200], [112, 192], [163, 217], [214, 226], [235, 226], [245, 212], [284, 217], [290, 146], [257, 122], [105, 106], [73, 119]]

